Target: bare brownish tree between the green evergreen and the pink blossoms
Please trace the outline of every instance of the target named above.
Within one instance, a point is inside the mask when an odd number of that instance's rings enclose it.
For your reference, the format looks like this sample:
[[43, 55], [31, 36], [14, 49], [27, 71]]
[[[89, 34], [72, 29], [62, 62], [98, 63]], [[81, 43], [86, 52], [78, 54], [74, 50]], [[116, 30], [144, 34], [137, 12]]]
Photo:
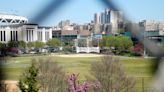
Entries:
[[38, 60], [38, 80], [42, 92], [68, 92], [65, 72], [51, 59]]

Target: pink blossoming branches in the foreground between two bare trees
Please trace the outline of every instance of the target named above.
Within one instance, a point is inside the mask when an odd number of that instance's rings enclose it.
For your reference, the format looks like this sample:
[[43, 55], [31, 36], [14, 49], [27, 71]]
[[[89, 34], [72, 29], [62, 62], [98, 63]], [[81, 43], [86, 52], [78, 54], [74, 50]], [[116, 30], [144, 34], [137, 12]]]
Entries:
[[69, 92], [87, 92], [90, 88], [97, 88], [96, 83], [87, 83], [77, 84], [78, 74], [72, 74], [68, 78], [68, 87]]

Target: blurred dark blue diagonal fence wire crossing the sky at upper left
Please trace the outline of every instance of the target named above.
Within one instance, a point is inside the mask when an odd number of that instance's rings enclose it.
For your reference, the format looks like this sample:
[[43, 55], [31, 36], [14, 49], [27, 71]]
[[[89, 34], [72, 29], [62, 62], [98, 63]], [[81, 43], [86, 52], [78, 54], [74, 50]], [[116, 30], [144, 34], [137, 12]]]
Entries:
[[33, 17], [31, 23], [42, 23], [47, 17], [49, 17], [67, 1], [69, 0], [51, 0], [43, 10], [40, 10], [37, 14], [35, 14], [36, 16]]

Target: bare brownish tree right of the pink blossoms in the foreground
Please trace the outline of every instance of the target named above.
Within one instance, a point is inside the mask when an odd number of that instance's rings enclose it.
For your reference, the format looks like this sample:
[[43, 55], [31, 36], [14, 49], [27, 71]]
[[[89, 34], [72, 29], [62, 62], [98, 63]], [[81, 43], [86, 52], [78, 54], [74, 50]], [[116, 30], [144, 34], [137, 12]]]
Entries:
[[93, 62], [91, 71], [100, 83], [100, 92], [133, 92], [135, 81], [126, 75], [118, 59], [105, 56]]

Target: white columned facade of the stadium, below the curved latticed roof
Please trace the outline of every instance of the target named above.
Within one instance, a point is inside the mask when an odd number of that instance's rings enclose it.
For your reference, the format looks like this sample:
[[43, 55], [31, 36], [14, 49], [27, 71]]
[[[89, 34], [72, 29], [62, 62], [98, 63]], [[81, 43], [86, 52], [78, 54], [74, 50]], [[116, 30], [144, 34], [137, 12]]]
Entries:
[[0, 26], [0, 42], [25, 41], [46, 42], [52, 38], [51, 27], [40, 27], [37, 24], [18, 24]]

